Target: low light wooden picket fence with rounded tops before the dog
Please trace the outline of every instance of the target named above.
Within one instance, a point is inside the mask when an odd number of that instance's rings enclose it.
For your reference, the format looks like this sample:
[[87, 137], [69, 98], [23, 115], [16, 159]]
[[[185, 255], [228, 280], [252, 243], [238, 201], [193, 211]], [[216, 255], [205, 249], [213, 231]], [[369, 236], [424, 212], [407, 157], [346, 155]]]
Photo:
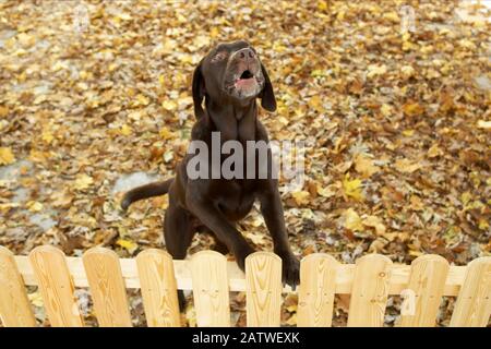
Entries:
[[[380, 254], [339, 264], [327, 254], [301, 261], [298, 325], [331, 326], [334, 296], [350, 294], [348, 326], [383, 326], [390, 294], [406, 297], [402, 326], [434, 326], [443, 296], [457, 297], [451, 326], [487, 326], [491, 313], [491, 257], [450, 266], [439, 255], [398, 265]], [[246, 275], [217, 252], [172, 261], [161, 250], [119, 258], [94, 248], [82, 257], [44, 245], [28, 256], [0, 246], [0, 320], [3, 326], [35, 326], [25, 286], [37, 285], [52, 326], [84, 326], [75, 287], [88, 287], [99, 326], [131, 326], [127, 288], [141, 288], [148, 326], [180, 326], [177, 290], [193, 290], [199, 326], [230, 326], [229, 291], [247, 292], [247, 325], [279, 326], [282, 260], [251, 254]]]

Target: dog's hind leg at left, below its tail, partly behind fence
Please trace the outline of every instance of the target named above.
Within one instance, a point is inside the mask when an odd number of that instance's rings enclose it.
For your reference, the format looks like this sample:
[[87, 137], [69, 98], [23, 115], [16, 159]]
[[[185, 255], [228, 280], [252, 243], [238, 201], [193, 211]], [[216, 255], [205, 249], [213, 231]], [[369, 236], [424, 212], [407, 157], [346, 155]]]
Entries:
[[[188, 248], [195, 233], [189, 213], [177, 206], [169, 200], [169, 207], [165, 216], [164, 238], [166, 249], [175, 260], [183, 260], [188, 252]], [[185, 298], [182, 290], [178, 291], [179, 309], [184, 311]]]

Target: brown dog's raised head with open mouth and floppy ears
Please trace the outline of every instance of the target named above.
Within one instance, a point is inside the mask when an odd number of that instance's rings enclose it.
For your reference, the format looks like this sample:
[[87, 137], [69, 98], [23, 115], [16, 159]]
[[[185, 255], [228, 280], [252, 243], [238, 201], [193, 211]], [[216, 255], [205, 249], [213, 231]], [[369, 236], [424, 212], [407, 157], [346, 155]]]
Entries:
[[276, 110], [276, 99], [266, 69], [246, 41], [219, 44], [194, 70], [193, 100], [197, 118], [203, 116], [203, 98], [247, 105], [261, 98], [261, 106]]

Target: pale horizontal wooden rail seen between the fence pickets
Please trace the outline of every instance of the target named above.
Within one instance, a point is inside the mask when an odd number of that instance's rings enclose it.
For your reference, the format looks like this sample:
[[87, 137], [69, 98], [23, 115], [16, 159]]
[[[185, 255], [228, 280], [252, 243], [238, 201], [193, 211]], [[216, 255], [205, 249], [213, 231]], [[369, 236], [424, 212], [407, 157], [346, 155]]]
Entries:
[[[121, 272], [127, 288], [140, 288], [136, 262], [134, 258], [120, 258]], [[19, 272], [25, 285], [36, 286], [33, 269], [27, 256], [15, 256]], [[83, 267], [82, 258], [67, 257], [67, 264], [72, 275], [75, 287], [88, 287], [87, 277]], [[189, 261], [173, 261], [175, 274], [178, 289], [192, 290], [191, 270]], [[227, 262], [230, 291], [246, 291], [246, 277], [235, 262]], [[394, 264], [391, 280], [390, 294], [400, 294], [409, 281], [410, 265]], [[451, 266], [446, 278], [443, 296], [457, 296], [464, 282], [466, 266]], [[350, 293], [355, 275], [355, 264], [340, 264], [336, 273], [336, 293]], [[284, 292], [291, 292], [291, 288], [286, 286]]]

